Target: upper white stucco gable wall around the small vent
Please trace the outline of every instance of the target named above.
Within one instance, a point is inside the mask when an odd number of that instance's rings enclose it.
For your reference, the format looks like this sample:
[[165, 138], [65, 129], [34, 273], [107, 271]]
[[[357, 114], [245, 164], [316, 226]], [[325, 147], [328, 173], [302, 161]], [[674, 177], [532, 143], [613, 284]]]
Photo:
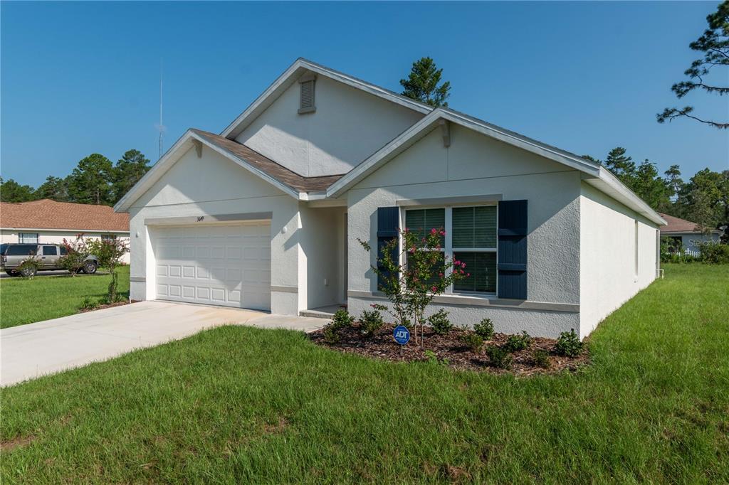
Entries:
[[299, 83], [235, 138], [303, 176], [346, 173], [423, 114], [324, 76], [316, 112], [298, 114]]

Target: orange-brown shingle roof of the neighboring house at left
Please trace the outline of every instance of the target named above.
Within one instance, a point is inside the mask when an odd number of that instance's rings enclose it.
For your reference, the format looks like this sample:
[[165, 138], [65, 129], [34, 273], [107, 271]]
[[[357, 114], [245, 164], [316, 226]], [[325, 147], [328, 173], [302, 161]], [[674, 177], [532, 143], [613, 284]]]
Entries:
[[70, 229], [129, 232], [129, 214], [108, 205], [73, 204], [42, 199], [0, 202], [0, 226], [12, 229]]

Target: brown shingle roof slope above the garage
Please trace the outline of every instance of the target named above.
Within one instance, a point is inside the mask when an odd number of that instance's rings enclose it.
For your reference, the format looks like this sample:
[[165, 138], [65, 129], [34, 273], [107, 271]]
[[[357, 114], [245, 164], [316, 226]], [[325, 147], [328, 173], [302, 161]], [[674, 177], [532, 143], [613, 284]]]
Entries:
[[272, 159], [263, 156], [254, 149], [238, 143], [237, 141], [228, 140], [225, 137], [210, 133], [203, 130], [191, 130], [196, 135], [204, 138], [209, 143], [223, 149], [243, 162], [248, 163], [252, 167], [257, 168], [266, 175], [275, 178], [286, 186], [291, 187], [299, 192], [319, 192], [326, 190], [327, 187], [338, 181], [342, 175], [321, 176], [321, 177], [304, 177], [288, 168], [274, 162]]

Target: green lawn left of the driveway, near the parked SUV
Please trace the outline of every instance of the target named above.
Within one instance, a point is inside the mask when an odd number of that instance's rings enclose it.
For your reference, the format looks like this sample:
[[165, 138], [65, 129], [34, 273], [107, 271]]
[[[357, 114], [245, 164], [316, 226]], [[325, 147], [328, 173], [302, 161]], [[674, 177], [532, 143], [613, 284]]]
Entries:
[[[119, 292], [129, 295], [129, 267], [117, 269]], [[0, 279], [0, 328], [39, 322], [72, 315], [89, 296], [106, 295], [111, 275], [39, 275], [32, 280], [22, 277]]]

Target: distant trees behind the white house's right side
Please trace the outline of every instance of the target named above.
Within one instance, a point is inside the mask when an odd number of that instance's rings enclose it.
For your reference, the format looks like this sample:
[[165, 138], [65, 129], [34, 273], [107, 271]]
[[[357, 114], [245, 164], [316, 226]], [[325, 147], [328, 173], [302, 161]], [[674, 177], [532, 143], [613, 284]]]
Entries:
[[645, 159], [636, 164], [621, 146], [604, 160], [582, 157], [600, 162], [658, 212], [693, 221], [702, 229], [729, 225], [729, 170], [704, 168], [684, 181], [679, 165], [671, 165], [660, 176], [655, 163]]

